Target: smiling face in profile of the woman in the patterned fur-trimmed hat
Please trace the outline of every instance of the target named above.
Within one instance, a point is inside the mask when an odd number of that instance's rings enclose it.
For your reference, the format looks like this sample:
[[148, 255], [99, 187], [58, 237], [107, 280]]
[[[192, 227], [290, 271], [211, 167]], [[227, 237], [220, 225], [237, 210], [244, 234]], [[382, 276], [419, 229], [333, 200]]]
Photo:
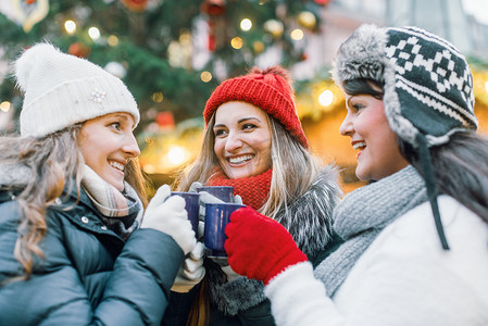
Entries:
[[400, 153], [381, 100], [368, 95], [346, 95], [346, 108], [348, 114], [339, 133], [351, 137], [352, 147], [359, 150], [358, 178], [379, 180], [409, 164]]

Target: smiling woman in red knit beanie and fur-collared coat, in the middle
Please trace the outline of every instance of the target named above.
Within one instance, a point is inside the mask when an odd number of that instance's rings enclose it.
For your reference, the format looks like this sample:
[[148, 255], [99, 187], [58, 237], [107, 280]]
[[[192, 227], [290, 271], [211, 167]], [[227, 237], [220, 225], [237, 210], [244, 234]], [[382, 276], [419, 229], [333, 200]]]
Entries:
[[[223, 82], [203, 117], [202, 151], [180, 177], [179, 189], [234, 186], [245, 204], [284, 225], [314, 260], [331, 238], [331, 212], [341, 191], [336, 170], [321, 165], [309, 151], [288, 72], [280, 66], [253, 68]], [[164, 325], [185, 325], [192, 298], [190, 325], [274, 325], [261, 281], [210, 259], [205, 267], [203, 281], [189, 293], [173, 293], [179, 310], [172, 314], [171, 303]], [[199, 281], [187, 279], [187, 285]]]

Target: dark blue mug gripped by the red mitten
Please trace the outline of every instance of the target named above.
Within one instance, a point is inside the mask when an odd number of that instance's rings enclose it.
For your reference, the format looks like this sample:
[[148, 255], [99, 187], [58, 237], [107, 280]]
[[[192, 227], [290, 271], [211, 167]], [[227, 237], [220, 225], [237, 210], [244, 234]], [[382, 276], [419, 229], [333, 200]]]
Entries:
[[225, 236], [225, 227], [230, 221], [230, 214], [245, 206], [243, 204], [236, 203], [205, 203], [203, 241], [210, 250], [209, 256], [227, 256], [224, 248], [225, 240], [227, 239]]

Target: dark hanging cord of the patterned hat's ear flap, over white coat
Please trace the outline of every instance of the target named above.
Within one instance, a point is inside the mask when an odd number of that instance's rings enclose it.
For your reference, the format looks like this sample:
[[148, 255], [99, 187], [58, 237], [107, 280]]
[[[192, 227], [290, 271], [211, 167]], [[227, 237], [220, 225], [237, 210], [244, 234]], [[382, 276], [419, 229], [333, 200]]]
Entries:
[[448, 240], [442, 227], [442, 221], [440, 221], [439, 205], [437, 203], [438, 189], [436, 186], [436, 175], [434, 173], [430, 151], [427, 146], [427, 139], [421, 133], [417, 133], [416, 140], [418, 145], [418, 156], [421, 161], [421, 167], [424, 174], [425, 186], [427, 188], [427, 197], [433, 209], [434, 221], [436, 222], [437, 234], [439, 235], [440, 243], [443, 250], [449, 250]]

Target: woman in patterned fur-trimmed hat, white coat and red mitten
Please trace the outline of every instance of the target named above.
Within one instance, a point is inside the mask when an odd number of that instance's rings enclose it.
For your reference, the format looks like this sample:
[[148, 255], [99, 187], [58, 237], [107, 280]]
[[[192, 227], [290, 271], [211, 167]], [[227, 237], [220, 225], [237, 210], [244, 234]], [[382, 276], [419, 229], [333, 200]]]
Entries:
[[312, 271], [286, 230], [241, 209], [230, 266], [264, 280], [278, 325], [487, 325], [488, 141], [464, 57], [420, 28], [364, 25], [333, 76], [355, 173], [374, 180], [334, 212], [345, 242]]

